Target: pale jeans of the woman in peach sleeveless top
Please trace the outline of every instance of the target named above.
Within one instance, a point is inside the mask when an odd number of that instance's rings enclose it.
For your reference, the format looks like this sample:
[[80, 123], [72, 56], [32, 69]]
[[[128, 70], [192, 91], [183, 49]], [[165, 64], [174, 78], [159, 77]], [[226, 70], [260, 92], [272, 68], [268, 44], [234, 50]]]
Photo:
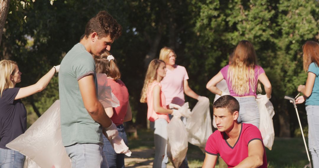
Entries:
[[154, 122], [154, 143], [155, 143], [155, 157], [153, 161], [153, 168], [166, 168], [168, 160], [165, 159], [167, 151], [167, 124], [164, 118], [158, 118]]

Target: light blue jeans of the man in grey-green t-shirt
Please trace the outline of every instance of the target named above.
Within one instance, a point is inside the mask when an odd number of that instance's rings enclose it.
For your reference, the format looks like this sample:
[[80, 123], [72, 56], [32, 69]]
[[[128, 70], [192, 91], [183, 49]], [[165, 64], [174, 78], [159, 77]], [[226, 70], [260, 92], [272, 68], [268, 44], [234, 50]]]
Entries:
[[72, 168], [92, 168], [102, 167], [102, 163], [108, 168], [108, 163], [102, 152], [102, 144], [82, 143], [66, 146], [65, 151], [72, 161]]

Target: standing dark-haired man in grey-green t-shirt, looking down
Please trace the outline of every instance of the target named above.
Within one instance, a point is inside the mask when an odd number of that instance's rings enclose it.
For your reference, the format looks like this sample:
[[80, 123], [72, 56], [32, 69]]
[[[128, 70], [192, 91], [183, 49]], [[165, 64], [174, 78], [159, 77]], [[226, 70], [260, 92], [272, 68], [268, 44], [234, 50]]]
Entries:
[[[75, 167], [101, 167], [102, 133], [118, 135], [117, 128], [97, 99], [97, 79], [92, 54], [110, 51], [122, 27], [106, 11], [89, 20], [85, 37], [65, 55], [59, 73], [62, 142]], [[105, 164], [107, 165], [107, 164]]]

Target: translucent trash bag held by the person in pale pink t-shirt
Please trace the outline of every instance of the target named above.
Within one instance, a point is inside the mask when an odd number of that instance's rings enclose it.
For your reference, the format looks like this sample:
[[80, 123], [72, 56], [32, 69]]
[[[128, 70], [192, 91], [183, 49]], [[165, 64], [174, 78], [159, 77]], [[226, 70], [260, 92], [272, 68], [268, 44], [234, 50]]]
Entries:
[[188, 142], [198, 146], [203, 152], [208, 137], [213, 133], [209, 104], [208, 98], [198, 101], [186, 122]]

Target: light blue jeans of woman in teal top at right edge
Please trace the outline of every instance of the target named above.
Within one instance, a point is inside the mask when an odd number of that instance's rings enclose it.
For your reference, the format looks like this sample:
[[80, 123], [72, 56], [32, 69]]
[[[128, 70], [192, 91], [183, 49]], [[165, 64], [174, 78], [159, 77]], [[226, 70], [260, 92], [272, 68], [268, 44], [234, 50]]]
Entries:
[[319, 106], [306, 106], [308, 119], [308, 146], [314, 167], [319, 167]]

